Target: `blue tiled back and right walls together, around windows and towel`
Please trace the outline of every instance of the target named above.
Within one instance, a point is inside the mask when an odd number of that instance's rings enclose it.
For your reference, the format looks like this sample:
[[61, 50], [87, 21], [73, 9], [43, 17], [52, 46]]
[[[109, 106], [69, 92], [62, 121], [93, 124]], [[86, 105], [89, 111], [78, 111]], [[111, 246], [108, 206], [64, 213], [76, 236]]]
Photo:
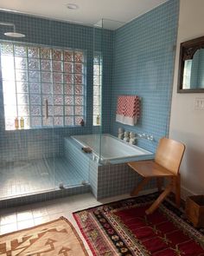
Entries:
[[[154, 135], [155, 142], [138, 141], [139, 146], [154, 151], [157, 140], [168, 134], [178, 9], [179, 1], [169, 0], [115, 32], [97, 30], [95, 45], [91, 27], [0, 11], [1, 21], [15, 23], [16, 30], [26, 34], [23, 42], [87, 50], [84, 128], [5, 132], [0, 84], [0, 161], [61, 155], [64, 153], [64, 137], [99, 130], [92, 127], [93, 47], [103, 50], [103, 132], [117, 135], [118, 127], [122, 126], [137, 133]], [[0, 26], [0, 39], [8, 40], [3, 36], [6, 30], [8, 28]], [[142, 98], [141, 118], [136, 127], [121, 125], [115, 121], [117, 97], [135, 94]]]

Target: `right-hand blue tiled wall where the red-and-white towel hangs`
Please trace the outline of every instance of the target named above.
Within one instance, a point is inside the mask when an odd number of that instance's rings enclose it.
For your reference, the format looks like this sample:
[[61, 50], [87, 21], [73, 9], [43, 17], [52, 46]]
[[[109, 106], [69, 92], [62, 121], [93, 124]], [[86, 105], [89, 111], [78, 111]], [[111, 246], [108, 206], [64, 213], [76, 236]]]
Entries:
[[[118, 128], [154, 135], [138, 145], [155, 150], [168, 135], [179, 1], [169, 0], [116, 30], [112, 82], [111, 132]], [[115, 121], [118, 95], [139, 95], [141, 117], [135, 127]]]

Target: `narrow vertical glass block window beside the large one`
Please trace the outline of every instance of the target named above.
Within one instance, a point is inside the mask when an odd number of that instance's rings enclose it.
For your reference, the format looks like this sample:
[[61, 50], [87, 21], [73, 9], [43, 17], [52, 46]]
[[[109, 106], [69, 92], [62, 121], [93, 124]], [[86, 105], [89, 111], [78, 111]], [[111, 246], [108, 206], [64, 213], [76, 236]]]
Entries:
[[100, 125], [101, 116], [101, 86], [102, 86], [102, 59], [99, 53], [93, 57], [93, 102], [92, 102], [92, 123]]

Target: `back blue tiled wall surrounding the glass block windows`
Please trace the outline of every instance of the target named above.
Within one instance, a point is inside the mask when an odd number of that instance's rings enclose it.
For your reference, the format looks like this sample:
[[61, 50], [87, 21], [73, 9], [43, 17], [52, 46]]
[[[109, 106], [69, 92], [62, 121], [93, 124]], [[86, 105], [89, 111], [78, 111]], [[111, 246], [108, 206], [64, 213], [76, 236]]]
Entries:
[[[99, 130], [99, 128], [92, 127], [93, 28], [4, 11], [0, 11], [0, 17], [1, 22], [15, 23], [16, 31], [26, 35], [21, 40], [22, 42], [86, 49], [86, 126], [84, 128], [4, 131], [3, 93], [2, 83], [0, 82], [0, 161], [16, 161], [28, 158], [41, 158], [41, 156], [61, 155], [63, 154], [64, 137], [68, 135], [92, 134], [93, 131]], [[3, 33], [6, 31], [8, 31], [8, 27], [0, 26], [0, 40], [11, 38], [3, 36]], [[104, 51], [105, 86], [103, 91], [105, 91], [106, 89], [111, 89], [112, 82], [112, 31], [103, 30], [103, 45], [100, 39], [100, 31], [98, 31], [96, 33], [94, 49], [103, 49]], [[107, 109], [110, 109], [110, 101], [105, 102], [105, 108], [103, 109], [105, 113], [108, 113]], [[104, 132], [109, 131], [109, 117], [110, 115], [104, 116]]]

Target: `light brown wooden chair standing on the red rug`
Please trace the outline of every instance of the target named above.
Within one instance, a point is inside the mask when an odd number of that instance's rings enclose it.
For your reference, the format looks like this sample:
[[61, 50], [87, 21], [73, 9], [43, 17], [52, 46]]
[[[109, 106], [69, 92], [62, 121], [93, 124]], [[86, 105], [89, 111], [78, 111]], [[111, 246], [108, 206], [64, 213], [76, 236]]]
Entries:
[[177, 207], [180, 207], [181, 178], [179, 167], [184, 150], [185, 146], [182, 143], [162, 138], [156, 149], [155, 161], [128, 162], [128, 165], [134, 171], [143, 176], [143, 181], [131, 192], [131, 196], [137, 195], [152, 178], [156, 178], [158, 191], [162, 192], [163, 178], [169, 179], [169, 184], [150, 208], [146, 210], [146, 214], [153, 213], [171, 191], [175, 192], [175, 203]]

